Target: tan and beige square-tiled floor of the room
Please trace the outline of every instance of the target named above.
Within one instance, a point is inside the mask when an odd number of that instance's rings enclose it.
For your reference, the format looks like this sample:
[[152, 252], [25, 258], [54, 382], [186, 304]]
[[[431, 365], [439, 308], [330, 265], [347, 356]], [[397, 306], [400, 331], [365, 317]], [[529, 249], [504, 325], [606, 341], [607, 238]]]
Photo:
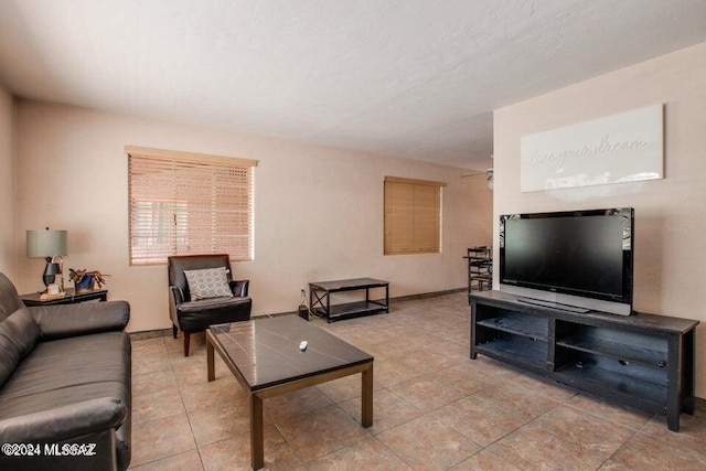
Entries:
[[[327, 324], [375, 356], [375, 418], [360, 426], [360, 376], [265, 400], [269, 470], [704, 470], [706, 413], [662, 416], [606, 403], [479, 356], [463, 293]], [[131, 469], [247, 470], [247, 396], [205, 338], [137, 340]], [[216, 355], [217, 357], [217, 355]]]

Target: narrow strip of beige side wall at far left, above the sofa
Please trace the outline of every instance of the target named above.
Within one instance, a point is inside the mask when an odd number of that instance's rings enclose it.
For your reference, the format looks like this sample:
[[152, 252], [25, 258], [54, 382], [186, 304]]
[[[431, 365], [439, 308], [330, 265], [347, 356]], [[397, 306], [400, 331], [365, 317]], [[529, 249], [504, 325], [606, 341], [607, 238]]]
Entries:
[[0, 85], [0, 272], [15, 276], [12, 96]]

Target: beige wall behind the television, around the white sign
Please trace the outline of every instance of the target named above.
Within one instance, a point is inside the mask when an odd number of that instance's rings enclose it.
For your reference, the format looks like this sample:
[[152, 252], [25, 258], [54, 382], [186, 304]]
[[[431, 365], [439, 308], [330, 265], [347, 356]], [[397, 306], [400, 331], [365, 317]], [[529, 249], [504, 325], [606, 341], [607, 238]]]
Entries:
[[[702, 43], [496, 110], [495, 239], [500, 214], [632, 206], [634, 308], [706, 322], [705, 77]], [[520, 192], [522, 136], [660, 103], [665, 105], [664, 180]], [[699, 397], [706, 397], [705, 329], [706, 323], [696, 330]]]

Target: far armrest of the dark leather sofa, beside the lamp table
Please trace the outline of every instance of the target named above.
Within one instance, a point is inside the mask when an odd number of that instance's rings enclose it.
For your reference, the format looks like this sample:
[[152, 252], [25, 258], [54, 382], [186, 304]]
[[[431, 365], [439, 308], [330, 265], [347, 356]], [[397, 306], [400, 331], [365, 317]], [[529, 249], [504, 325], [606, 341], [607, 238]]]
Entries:
[[121, 331], [130, 320], [127, 301], [78, 302], [28, 308], [40, 327], [41, 340]]

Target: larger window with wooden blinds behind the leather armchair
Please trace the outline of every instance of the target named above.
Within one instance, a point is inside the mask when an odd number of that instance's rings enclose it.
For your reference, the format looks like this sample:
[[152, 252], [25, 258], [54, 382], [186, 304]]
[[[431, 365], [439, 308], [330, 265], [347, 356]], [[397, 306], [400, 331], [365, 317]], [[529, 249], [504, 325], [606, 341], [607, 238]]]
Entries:
[[253, 259], [257, 161], [128, 146], [130, 265], [170, 255]]

